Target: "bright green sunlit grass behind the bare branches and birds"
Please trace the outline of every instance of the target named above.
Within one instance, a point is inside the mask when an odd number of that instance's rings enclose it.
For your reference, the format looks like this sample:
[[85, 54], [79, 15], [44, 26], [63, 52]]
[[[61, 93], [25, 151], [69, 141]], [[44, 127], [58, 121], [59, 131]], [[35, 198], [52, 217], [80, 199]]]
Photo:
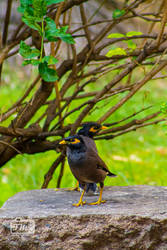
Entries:
[[[0, 88], [2, 112], [17, 100], [31, 82], [23, 72], [18, 71], [14, 75], [9, 72], [9, 69], [9, 66], [5, 67], [5, 83]], [[20, 79], [24, 84], [20, 84]], [[90, 88], [94, 89], [94, 85]], [[167, 89], [163, 82], [151, 81], [107, 122], [120, 120], [150, 104], [154, 105], [154, 109], [158, 109], [165, 101], [166, 95]], [[123, 95], [118, 98], [122, 97]], [[87, 117], [87, 120], [96, 120], [103, 114], [104, 109], [108, 109], [118, 98], [100, 103], [99, 108]], [[79, 105], [78, 102], [77, 105]], [[139, 117], [146, 113], [148, 111]], [[75, 113], [67, 119], [67, 122], [72, 122], [77, 115], [78, 113]], [[7, 124], [8, 122], [3, 123], [3, 125]], [[106, 178], [105, 185], [167, 185], [167, 140], [161, 124], [142, 128], [116, 137], [114, 140], [97, 141], [97, 147], [110, 170], [118, 175], [117, 178]], [[17, 192], [40, 188], [44, 174], [57, 157], [56, 151], [49, 151], [36, 155], [18, 155], [8, 162], [0, 169], [0, 189], [2, 190], [0, 205]], [[59, 168], [55, 171], [49, 188], [56, 187], [59, 171]], [[66, 163], [61, 187], [74, 185], [75, 180]]]

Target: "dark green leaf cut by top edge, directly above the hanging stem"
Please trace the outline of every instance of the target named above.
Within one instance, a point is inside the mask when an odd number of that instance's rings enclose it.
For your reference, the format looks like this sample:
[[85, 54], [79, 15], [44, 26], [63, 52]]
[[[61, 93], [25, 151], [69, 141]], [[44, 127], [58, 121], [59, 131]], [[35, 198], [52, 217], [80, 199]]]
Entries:
[[46, 15], [47, 5], [46, 0], [32, 0], [32, 5], [34, 9], [34, 17], [42, 18]]

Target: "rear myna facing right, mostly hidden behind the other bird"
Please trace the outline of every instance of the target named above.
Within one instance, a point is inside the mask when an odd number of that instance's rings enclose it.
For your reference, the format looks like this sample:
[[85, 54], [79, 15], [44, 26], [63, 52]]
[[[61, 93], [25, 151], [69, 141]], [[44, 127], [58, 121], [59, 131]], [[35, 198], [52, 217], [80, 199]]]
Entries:
[[[96, 144], [93, 140], [93, 137], [100, 131], [103, 129], [107, 129], [106, 126], [103, 126], [97, 122], [87, 122], [84, 123], [82, 128], [77, 132], [78, 135], [82, 135], [85, 137], [85, 144], [86, 146], [89, 148], [91, 147], [91, 149], [94, 149], [97, 152], [97, 148], [96, 148]], [[98, 192], [98, 187], [96, 185], [96, 183], [88, 183], [86, 185], [86, 193], [90, 191], [93, 191], [94, 194], [97, 194]], [[81, 183], [79, 183], [79, 187], [81, 189], [83, 189]]]

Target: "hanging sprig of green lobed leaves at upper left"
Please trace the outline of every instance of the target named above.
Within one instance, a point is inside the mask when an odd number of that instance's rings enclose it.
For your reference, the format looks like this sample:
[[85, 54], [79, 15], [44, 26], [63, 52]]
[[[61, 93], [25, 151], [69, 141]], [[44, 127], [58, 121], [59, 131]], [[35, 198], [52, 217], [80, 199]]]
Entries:
[[[68, 26], [57, 28], [55, 21], [47, 16], [47, 6], [63, 2], [63, 0], [20, 0], [18, 11], [22, 14], [22, 21], [31, 29], [37, 30], [41, 37], [41, 49], [32, 49], [24, 41], [20, 42], [19, 53], [25, 60], [23, 65], [38, 66], [39, 74], [46, 82], [55, 82], [58, 75], [49, 65], [56, 64], [58, 60], [52, 55], [44, 56], [44, 39], [48, 42], [63, 42], [73, 44], [74, 39], [67, 33]], [[45, 25], [46, 23], [46, 25]]]

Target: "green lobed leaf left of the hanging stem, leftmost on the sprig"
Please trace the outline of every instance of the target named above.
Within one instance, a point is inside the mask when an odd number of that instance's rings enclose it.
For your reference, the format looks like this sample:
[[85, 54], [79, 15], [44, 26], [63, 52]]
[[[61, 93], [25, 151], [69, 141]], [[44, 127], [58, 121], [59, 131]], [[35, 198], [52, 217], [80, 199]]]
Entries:
[[26, 59], [32, 59], [33, 57], [40, 56], [40, 51], [38, 49], [32, 49], [31, 46], [27, 45], [25, 42], [20, 42], [19, 53]]

